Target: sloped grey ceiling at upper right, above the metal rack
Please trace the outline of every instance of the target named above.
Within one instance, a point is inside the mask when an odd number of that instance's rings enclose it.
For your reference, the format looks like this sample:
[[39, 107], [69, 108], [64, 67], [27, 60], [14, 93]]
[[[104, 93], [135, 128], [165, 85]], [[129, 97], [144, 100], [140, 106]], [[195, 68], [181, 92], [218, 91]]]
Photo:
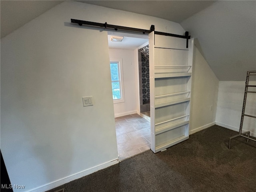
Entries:
[[256, 70], [256, 1], [218, 1], [180, 24], [219, 80]]

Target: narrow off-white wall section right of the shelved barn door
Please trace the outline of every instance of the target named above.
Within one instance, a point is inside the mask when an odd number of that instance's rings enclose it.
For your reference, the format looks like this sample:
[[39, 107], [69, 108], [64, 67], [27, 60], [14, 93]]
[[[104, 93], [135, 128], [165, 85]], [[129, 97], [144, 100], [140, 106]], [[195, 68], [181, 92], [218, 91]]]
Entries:
[[[215, 124], [219, 80], [194, 46], [190, 134]], [[212, 107], [211, 107], [212, 106]]]

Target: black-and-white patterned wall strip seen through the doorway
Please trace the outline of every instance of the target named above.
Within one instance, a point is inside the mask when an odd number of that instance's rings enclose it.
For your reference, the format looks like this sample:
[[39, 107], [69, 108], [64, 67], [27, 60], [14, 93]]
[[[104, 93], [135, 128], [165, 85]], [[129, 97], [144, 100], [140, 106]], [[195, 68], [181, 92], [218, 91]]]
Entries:
[[143, 103], [150, 101], [149, 94], [149, 46], [140, 49], [142, 60], [142, 94]]

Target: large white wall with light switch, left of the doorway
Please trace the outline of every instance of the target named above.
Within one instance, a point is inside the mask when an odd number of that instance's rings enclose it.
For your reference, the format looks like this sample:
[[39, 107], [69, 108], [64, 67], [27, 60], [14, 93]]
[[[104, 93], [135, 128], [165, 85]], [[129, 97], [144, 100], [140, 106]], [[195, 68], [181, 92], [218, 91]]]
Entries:
[[[1, 151], [12, 184], [26, 185], [20, 192], [46, 191], [118, 156], [107, 33], [70, 18], [184, 34], [160, 18], [64, 1], [2, 38]], [[94, 106], [83, 107], [83, 96]]]

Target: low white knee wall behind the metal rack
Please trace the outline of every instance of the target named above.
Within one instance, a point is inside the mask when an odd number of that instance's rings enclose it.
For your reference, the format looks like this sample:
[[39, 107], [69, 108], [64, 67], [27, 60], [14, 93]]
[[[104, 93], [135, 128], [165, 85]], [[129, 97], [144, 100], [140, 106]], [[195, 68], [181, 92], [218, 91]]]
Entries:
[[[244, 74], [245, 76], [246, 74]], [[250, 82], [256, 85], [256, 81]], [[239, 131], [244, 100], [245, 81], [220, 81], [216, 124]], [[255, 90], [254, 90], [255, 91]], [[256, 116], [256, 94], [248, 93], [245, 114]], [[244, 117], [243, 131], [256, 136], [256, 119]]]

